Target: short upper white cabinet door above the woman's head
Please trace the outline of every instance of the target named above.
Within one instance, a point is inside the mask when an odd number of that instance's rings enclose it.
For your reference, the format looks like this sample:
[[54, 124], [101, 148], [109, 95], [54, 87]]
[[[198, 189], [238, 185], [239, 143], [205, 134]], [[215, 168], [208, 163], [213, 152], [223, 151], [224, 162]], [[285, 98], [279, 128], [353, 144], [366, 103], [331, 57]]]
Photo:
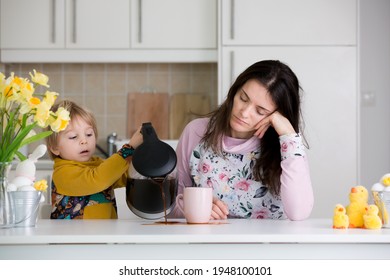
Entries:
[[221, 0], [224, 45], [355, 45], [357, 0]]

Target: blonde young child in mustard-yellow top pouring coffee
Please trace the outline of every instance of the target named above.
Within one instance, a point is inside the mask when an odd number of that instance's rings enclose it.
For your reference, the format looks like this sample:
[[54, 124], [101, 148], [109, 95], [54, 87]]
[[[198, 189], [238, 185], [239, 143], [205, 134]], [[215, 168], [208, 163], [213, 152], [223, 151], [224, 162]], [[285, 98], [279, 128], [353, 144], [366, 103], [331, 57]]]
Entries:
[[143, 141], [140, 130], [107, 159], [94, 156], [93, 114], [72, 101], [54, 105], [70, 113], [65, 130], [46, 138], [54, 160], [51, 219], [117, 219], [114, 188], [126, 186], [132, 154]]

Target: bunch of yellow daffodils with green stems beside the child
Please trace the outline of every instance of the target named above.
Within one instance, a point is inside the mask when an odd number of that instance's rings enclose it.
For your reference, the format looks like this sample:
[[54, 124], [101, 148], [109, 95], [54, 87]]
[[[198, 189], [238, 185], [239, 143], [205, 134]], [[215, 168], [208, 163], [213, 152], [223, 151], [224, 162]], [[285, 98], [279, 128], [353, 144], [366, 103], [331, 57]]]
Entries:
[[[62, 131], [69, 123], [69, 112], [60, 107], [56, 112], [51, 107], [58, 93], [47, 90], [49, 78], [37, 71], [21, 78], [11, 73], [6, 77], [0, 72], [0, 162], [11, 162], [15, 156], [21, 161], [26, 156], [19, 149], [41, 140], [54, 132]], [[37, 87], [46, 92], [36, 93]], [[50, 130], [36, 133], [34, 128]]]

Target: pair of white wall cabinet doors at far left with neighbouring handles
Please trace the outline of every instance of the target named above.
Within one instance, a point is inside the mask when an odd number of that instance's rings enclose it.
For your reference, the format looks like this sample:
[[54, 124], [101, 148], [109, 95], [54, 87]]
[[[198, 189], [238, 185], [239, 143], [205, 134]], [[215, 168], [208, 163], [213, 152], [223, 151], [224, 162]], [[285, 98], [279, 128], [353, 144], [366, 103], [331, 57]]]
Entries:
[[1, 0], [1, 11], [2, 49], [130, 46], [128, 0]]

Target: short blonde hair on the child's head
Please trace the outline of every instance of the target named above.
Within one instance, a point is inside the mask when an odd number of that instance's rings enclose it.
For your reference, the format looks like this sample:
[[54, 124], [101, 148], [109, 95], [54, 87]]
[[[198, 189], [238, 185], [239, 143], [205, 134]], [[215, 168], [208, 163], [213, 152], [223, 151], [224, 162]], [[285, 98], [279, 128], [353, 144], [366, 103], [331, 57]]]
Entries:
[[[81, 107], [77, 105], [75, 102], [70, 100], [62, 100], [59, 102], [56, 102], [53, 107], [52, 111], [56, 112], [59, 107], [65, 108], [69, 112], [70, 120], [72, 121], [72, 118], [74, 117], [80, 117], [83, 119], [86, 123], [88, 123], [94, 133], [95, 138], [97, 139], [98, 132], [97, 132], [97, 125], [96, 125], [96, 119], [93, 115], [93, 113], [88, 110], [85, 107]], [[51, 159], [55, 159], [57, 156], [51, 152], [50, 147], [55, 148], [57, 147], [57, 139], [58, 139], [58, 132], [53, 132], [49, 137], [46, 138], [46, 145], [48, 147], [48, 153]]]

